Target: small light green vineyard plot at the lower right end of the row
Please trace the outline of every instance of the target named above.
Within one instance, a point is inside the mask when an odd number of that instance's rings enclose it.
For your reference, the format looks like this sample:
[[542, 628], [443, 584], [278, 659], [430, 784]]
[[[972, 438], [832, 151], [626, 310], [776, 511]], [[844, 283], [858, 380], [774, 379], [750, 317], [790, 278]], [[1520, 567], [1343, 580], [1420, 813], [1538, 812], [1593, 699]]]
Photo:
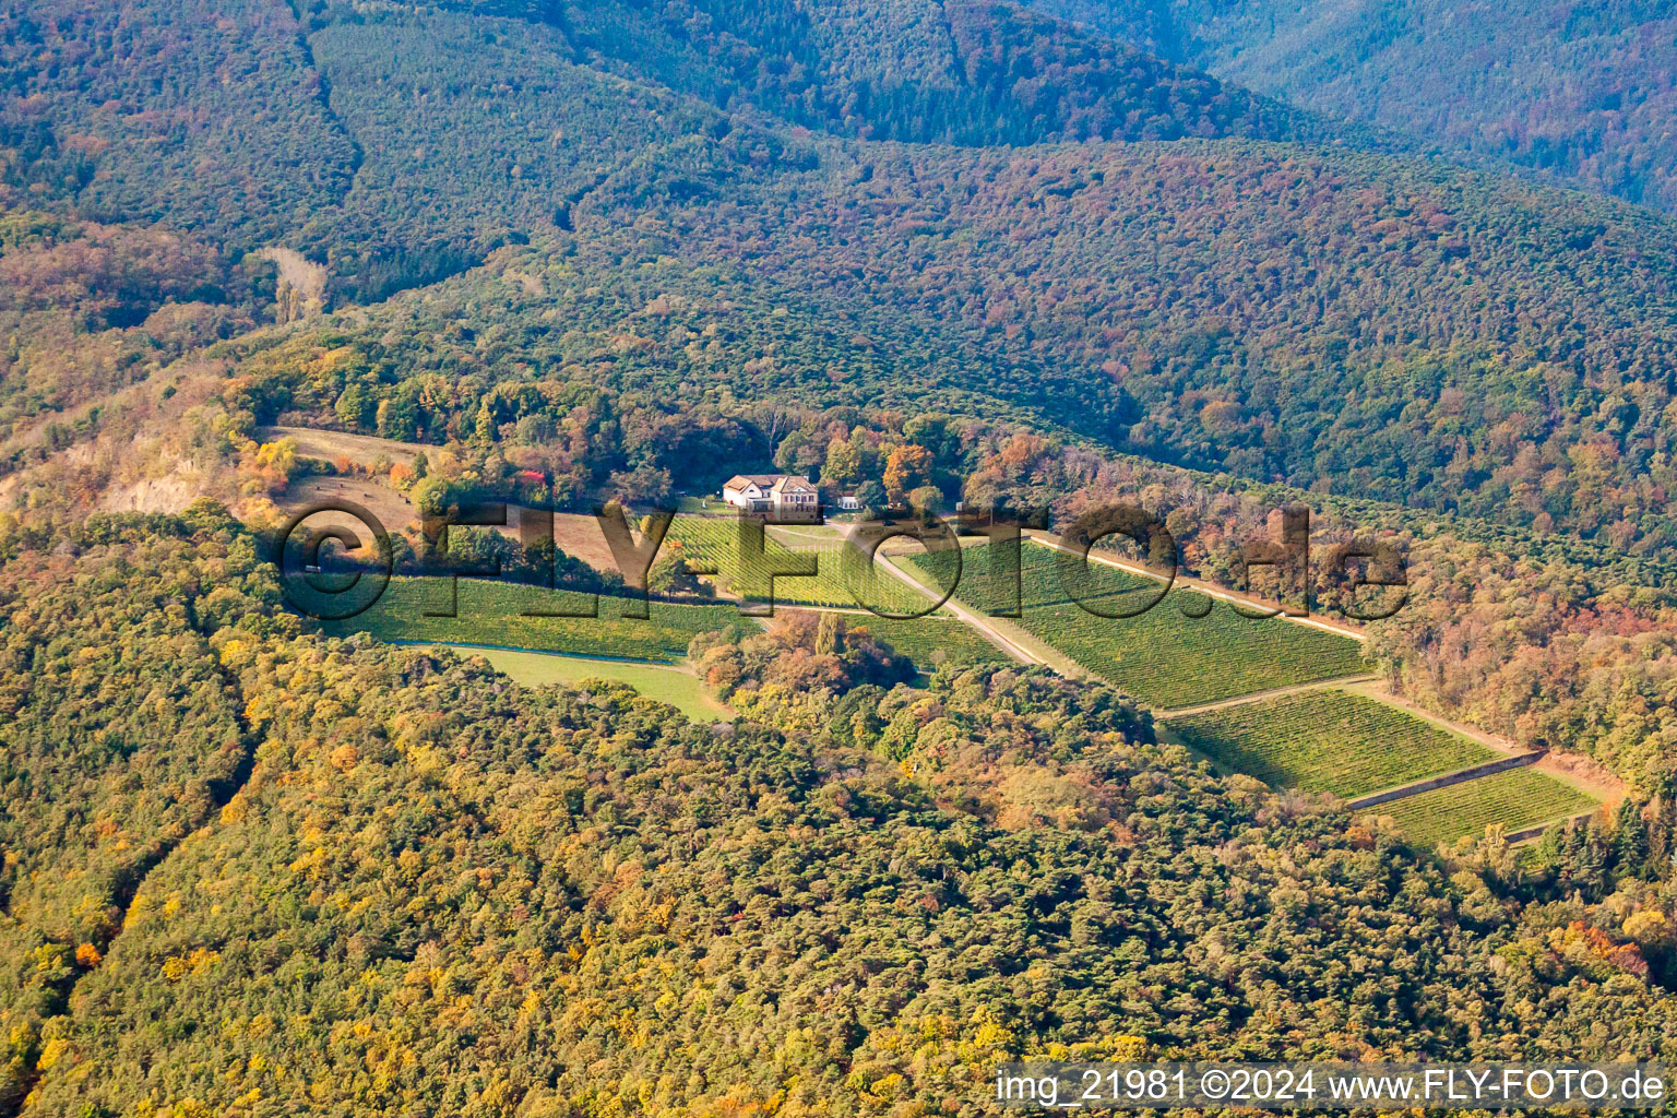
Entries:
[[1528, 768], [1424, 791], [1368, 813], [1392, 816], [1417, 846], [1430, 848], [1464, 835], [1484, 835], [1491, 823], [1513, 831], [1595, 806], [1588, 793]]

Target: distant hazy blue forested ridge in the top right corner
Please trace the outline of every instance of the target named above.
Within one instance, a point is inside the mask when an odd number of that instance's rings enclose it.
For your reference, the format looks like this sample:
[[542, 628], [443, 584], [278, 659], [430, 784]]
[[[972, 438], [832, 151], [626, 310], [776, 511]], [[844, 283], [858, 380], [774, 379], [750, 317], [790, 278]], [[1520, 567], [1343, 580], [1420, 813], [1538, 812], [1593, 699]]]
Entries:
[[1028, 0], [1330, 119], [1677, 210], [1677, 20], [1659, 0]]

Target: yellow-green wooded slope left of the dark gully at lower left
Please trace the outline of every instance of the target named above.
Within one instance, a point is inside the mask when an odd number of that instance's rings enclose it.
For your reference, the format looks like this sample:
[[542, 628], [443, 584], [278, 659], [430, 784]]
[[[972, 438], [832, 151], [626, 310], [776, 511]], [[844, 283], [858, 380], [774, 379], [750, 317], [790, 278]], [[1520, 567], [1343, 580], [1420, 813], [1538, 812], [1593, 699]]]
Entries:
[[0, 1113], [15, 1113], [144, 877], [245, 779], [255, 741], [206, 635], [295, 622], [220, 508], [67, 535], [8, 518], [0, 551]]

